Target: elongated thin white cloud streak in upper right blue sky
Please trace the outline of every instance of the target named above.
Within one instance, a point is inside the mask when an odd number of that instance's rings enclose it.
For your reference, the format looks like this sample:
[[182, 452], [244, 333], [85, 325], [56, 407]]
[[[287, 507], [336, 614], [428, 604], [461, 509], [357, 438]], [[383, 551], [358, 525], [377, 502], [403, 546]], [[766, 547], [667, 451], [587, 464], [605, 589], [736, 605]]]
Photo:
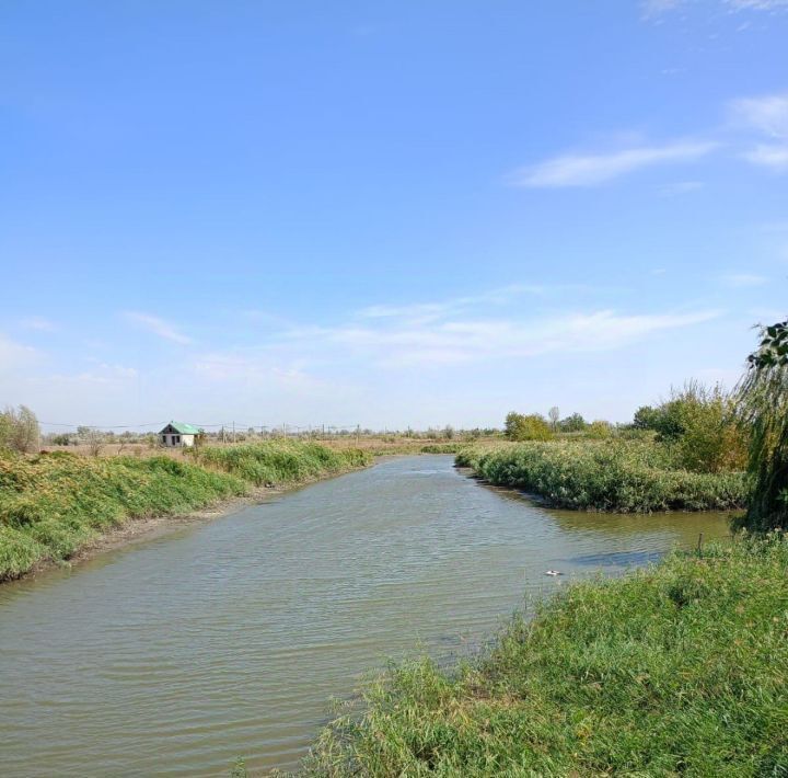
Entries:
[[509, 176], [509, 183], [540, 188], [596, 186], [644, 168], [691, 162], [706, 157], [718, 146], [712, 141], [677, 141], [607, 153], [561, 155], [515, 171]]

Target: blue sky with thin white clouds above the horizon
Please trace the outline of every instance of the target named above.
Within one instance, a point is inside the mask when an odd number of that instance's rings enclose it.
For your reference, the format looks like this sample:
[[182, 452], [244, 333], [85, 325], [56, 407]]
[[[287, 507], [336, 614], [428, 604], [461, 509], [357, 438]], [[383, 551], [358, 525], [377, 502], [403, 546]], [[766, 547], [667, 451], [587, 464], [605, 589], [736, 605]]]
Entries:
[[626, 421], [786, 313], [788, 0], [0, 7], [0, 403]]

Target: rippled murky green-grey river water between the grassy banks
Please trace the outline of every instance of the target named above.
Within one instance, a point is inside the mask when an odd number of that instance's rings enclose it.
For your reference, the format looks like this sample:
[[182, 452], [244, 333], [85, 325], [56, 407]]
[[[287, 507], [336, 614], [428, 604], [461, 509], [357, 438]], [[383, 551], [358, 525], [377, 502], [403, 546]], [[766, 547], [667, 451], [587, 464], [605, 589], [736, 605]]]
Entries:
[[725, 517], [547, 511], [406, 457], [2, 586], [0, 774], [296, 767], [387, 656], [464, 652], [525, 592], [702, 531]]

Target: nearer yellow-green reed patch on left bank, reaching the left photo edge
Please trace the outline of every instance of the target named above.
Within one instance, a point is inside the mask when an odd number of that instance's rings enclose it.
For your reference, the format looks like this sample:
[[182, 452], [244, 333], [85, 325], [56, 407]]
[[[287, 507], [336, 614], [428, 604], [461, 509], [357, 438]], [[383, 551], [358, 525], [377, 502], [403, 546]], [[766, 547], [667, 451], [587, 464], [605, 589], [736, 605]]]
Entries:
[[68, 559], [127, 519], [184, 513], [246, 489], [233, 476], [167, 457], [1, 451], [0, 581]]

